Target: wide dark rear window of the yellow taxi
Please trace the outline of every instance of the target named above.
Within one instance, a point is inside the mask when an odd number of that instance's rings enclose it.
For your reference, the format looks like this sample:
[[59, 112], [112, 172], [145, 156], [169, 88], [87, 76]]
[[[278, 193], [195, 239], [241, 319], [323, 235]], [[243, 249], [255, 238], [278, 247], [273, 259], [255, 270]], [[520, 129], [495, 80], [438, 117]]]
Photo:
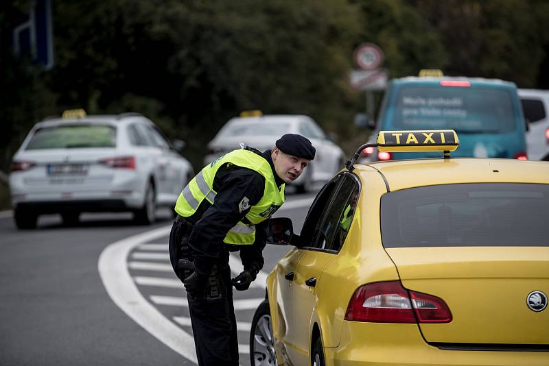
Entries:
[[549, 184], [445, 184], [386, 193], [392, 247], [549, 246]]

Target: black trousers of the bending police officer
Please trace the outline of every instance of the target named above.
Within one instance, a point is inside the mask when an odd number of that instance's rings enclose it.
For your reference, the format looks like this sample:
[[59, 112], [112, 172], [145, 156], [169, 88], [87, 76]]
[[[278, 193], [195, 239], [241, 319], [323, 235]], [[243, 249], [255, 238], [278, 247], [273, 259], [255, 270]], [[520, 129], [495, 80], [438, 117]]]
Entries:
[[[177, 260], [183, 256], [191, 258], [185, 252], [191, 230], [191, 225], [176, 219], [170, 232], [170, 261], [181, 281], [185, 279], [185, 274], [177, 268]], [[239, 365], [229, 252], [224, 251], [222, 257], [217, 263], [212, 263], [216, 270], [211, 273], [205, 291], [187, 294], [199, 366]], [[210, 286], [218, 286], [218, 289], [212, 291]], [[214, 292], [219, 295], [210, 296]]]

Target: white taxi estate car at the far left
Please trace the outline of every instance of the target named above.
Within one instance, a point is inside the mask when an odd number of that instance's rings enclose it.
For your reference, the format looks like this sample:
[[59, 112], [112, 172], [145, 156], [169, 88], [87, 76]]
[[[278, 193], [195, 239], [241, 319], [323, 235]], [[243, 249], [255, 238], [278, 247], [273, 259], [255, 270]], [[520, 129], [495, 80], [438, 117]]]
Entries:
[[15, 223], [35, 228], [40, 214], [76, 223], [81, 212], [117, 211], [152, 223], [156, 206], [174, 206], [193, 176], [189, 161], [141, 114], [66, 111], [34, 125], [14, 155]]

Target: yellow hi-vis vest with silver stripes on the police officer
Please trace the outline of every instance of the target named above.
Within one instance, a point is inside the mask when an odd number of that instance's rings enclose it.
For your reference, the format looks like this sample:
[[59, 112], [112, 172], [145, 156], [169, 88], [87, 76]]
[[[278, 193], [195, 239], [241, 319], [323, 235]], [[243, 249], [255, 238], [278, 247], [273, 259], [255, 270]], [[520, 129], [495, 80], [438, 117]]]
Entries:
[[[253, 151], [238, 149], [221, 156], [217, 160], [213, 160], [183, 188], [177, 199], [175, 210], [183, 217], [190, 217], [196, 212], [203, 199], [207, 199], [210, 204], [213, 204], [215, 195], [217, 194], [217, 192], [213, 191], [213, 179], [218, 169], [227, 162], [235, 164], [238, 167], [257, 171], [257, 173], [260, 173], [265, 178], [263, 197], [261, 197], [257, 204], [251, 206], [246, 214], [248, 223], [239, 221], [229, 230], [225, 239], [223, 239], [223, 242], [226, 244], [253, 244], [255, 241], [255, 225], [268, 219], [282, 206], [285, 200], [285, 184], [282, 184], [279, 189], [277, 183], [274, 181], [274, 175], [272, 174], [269, 162]], [[244, 209], [246, 208], [244, 207]]]

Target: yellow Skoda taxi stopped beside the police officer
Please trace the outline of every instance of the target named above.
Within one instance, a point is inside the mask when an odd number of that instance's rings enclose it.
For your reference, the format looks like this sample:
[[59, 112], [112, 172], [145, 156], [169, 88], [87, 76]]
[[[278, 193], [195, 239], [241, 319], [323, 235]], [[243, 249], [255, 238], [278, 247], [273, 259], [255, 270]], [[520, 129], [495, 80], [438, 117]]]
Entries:
[[[274, 267], [252, 365], [549, 365], [549, 163], [452, 158], [453, 130], [382, 131], [318, 193]], [[441, 158], [355, 164], [379, 151]]]

